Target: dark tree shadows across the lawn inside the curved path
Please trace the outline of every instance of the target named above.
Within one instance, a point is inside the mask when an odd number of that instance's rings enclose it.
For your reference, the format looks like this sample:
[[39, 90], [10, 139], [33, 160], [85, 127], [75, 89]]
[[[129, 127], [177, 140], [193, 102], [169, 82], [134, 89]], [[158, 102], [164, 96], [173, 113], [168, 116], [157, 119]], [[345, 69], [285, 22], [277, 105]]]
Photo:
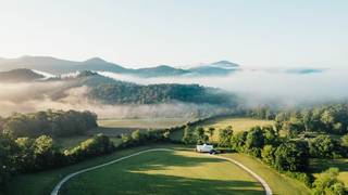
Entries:
[[78, 176], [63, 185], [60, 194], [264, 194], [260, 183], [252, 181], [210, 180], [141, 172], [166, 170], [169, 166], [185, 168], [221, 161], [225, 160], [188, 157], [174, 152], [149, 153]]

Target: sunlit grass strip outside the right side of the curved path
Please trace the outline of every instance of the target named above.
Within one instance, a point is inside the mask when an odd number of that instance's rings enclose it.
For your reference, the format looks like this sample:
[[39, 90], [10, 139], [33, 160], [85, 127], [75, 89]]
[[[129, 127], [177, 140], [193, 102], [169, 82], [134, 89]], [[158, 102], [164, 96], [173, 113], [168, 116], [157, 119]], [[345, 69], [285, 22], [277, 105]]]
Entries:
[[274, 169], [263, 165], [258, 159], [250, 157], [245, 154], [232, 153], [232, 154], [223, 154], [223, 156], [235, 159], [257, 174], [262, 177], [270, 187], [272, 188], [273, 194], [281, 195], [309, 195], [311, 194], [310, 190], [304, 186], [304, 184], [290, 179], [286, 176], [282, 176], [276, 172]]

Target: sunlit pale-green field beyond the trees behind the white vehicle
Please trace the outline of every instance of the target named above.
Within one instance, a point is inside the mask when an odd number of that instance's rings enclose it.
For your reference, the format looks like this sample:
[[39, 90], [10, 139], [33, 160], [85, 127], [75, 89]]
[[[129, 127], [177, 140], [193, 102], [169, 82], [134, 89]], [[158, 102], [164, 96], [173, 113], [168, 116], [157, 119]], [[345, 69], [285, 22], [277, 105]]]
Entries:
[[[220, 118], [214, 118], [207, 120], [198, 126], [203, 127], [204, 129], [208, 129], [210, 127], [215, 128], [214, 134], [213, 134], [213, 141], [217, 141], [219, 138], [219, 130], [224, 129], [228, 126], [232, 126], [234, 132], [238, 131], [248, 131], [250, 128], [254, 126], [273, 126], [274, 121], [273, 120], [260, 120], [260, 119], [254, 119], [254, 118], [238, 118], [235, 116], [229, 116], [229, 117], [220, 117]], [[176, 131], [172, 134], [173, 140], [182, 140], [184, 135], [183, 131]]]

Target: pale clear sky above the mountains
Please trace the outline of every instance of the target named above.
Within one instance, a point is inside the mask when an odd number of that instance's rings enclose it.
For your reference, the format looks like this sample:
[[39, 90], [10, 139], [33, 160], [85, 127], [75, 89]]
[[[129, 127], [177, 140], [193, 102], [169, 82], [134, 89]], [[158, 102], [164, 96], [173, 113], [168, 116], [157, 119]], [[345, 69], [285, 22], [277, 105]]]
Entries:
[[0, 0], [0, 57], [348, 65], [347, 0]]

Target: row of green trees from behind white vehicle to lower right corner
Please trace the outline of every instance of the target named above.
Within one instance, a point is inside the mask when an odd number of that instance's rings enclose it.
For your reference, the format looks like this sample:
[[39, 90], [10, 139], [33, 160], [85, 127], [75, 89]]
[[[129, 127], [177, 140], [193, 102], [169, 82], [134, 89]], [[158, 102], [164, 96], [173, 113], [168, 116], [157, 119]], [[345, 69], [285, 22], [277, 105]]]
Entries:
[[[186, 127], [183, 142], [186, 144], [207, 143], [214, 134], [214, 128]], [[234, 133], [233, 127], [219, 130], [217, 145], [238, 153], [246, 153], [275, 170], [303, 182], [315, 194], [344, 194], [345, 185], [337, 180], [337, 170], [330, 169], [318, 179], [309, 174], [310, 158], [347, 157], [348, 134], [341, 142], [330, 135], [319, 135], [309, 140], [291, 140], [281, 136], [273, 126], [253, 127], [249, 131]], [[327, 178], [331, 176], [332, 178]], [[327, 182], [331, 184], [327, 185]], [[335, 186], [335, 187], [333, 187]]]

